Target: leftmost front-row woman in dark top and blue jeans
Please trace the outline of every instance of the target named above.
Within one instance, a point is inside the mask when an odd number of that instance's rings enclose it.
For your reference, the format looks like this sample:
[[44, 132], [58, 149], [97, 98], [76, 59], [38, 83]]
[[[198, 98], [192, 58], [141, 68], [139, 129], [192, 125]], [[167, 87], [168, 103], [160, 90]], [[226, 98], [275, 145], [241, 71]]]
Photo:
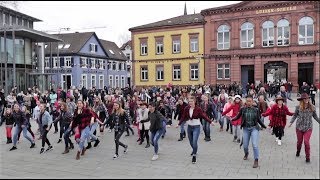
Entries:
[[19, 104], [15, 104], [13, 106], [13, 119], [15, 121], [16, 124], [16, 129], [13, 135], [13, 147], [10, 149], [10, 151], [16, 150], [17, 149], [17, 141], [18, 141], [18, 135], [20, 130], [22, 129], [23, 131], [23, 136], [31, 143], [30, 148], [34, 148], [35, 147], [35, 143], [34, 140], [32, 140], [28, 135], [27, 135], [27, 131], [28, 131], [28, 120], [26, 118], [25, 113], [23, 113], [20, 110]]

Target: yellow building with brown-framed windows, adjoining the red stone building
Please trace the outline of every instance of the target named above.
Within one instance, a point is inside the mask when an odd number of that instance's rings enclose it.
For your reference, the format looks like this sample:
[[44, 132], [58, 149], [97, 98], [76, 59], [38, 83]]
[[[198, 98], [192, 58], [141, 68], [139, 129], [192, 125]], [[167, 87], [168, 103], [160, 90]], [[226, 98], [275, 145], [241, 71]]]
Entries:
[[138, 88], [203, 84], [203, 28], [200, 14], [130, 28], [133, 84]]

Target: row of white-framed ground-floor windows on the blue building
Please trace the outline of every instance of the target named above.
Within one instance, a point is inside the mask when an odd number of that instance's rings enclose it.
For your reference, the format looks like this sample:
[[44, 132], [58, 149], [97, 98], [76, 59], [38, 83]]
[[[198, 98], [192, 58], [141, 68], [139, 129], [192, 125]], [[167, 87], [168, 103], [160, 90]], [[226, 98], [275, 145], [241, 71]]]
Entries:
[[[90, 81], [90, 84], [88, 86], [88, 75], [87, 74], [82, 74], [81, 75], [81, 83], [80, 83], [80, 86], [81, 87], [96, 87], [96, 88], [99, 88], [99, 89], [103, 89], [104, 88], [104, 75], [99, 75], [98, 77], [98, 85], [97, 86], [97, 76], [95, 74], [91, 74], [91, 81]], [[119, 80], [119, 78], [121, 78]], [[117, 88], [117, 87], [120, 87], [120, 88], [124, 88], [126, 86], [126, 80], [125, 80], [125, 76], [119, 76], [119, 75], [109, 75], [109, 87], [112, 87], [112, 88]]]

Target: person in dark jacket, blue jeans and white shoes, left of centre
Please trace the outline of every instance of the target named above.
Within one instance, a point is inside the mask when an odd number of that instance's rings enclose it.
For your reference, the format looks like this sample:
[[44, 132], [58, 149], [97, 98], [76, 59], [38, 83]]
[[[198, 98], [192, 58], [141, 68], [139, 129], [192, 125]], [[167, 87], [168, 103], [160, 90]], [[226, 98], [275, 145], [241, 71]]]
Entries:
[[150, 120], [151, 145], [154, 147], [154, 155], [151, 160], [155, 161], [159, 158], [158, 141], [160, 136], [164, 133], [164, 127], [166, 127], [164, 122], [166, 122], [166, 119], [159, 111], [156, 111], [155, 103], [149, 104], [148, 118]]

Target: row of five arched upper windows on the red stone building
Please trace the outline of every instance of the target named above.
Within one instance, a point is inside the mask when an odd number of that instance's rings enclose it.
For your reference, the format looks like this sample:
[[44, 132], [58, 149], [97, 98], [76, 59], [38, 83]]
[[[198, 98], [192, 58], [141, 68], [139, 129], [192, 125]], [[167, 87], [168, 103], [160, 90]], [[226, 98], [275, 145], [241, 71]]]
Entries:
[[[313, 44], [314, 42], [314, 21], [311, 17], [303, 17], [299, 20], [298, 42], [300, 45]], [[277, 34], [275, 34], [275, 28]], [[272, 21], [266, 21], [262, 24], [262, 46], [272, 47], [287, 46], [290, 44], [290, 23], [286, 19], [277, 22], [277, 26]], [[241, 25], [240, 47], [254, 47], [254, 25], [246, 22]], [[217, 33], [217, 49], [230, 49], [230, 27], [221, 25]]]

